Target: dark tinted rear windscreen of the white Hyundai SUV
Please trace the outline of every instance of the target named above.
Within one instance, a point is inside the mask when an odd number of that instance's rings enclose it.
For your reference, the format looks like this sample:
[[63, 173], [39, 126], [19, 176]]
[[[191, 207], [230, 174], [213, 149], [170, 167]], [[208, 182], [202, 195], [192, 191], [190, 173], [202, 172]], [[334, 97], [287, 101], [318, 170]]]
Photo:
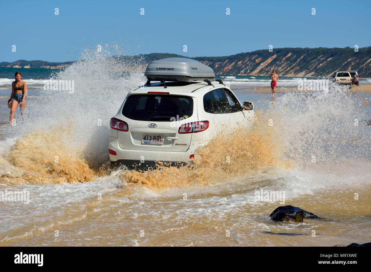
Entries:
[[138, 121], [170, 122], [192, 113], [193, 99], [183, 95], [132, 94], [122, 108], [122, 115]]

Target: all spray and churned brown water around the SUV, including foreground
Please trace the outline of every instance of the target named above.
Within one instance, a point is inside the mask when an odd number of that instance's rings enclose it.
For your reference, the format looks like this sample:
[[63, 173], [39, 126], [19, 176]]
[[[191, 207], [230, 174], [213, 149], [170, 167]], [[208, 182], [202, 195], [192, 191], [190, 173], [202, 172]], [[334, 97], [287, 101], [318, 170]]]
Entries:
[[[287, 92], [256, 111], [251, 131], [199, 147], [191, 167], [102, 173], [109, 119], [145, 82], [143, 73], [130, 72], [145, 63], [120, 61], [94, 53], [59, 71], [53, 78], [73, 80], [74, 93], [39, 90], [25, 122], [6, 131], [0, 187], [28, 189], [30, 205], [0, 202], [1, 245], [318, 246], [369, 239], [371, 127], [355, 125], [370, 119], [366, 98], [335, 85], [328, 93]], [[267, 216], [280, 204], [255, 202], [260, 188], [285, 191], [286, 205], [339, 220], [272, 223]], [[57, 227], [63, 239], [45, 235]], [[311, 228], [325, 235], [295, 241], [261, 233]], [[226, 229], [233, 239], [215, 239]]]

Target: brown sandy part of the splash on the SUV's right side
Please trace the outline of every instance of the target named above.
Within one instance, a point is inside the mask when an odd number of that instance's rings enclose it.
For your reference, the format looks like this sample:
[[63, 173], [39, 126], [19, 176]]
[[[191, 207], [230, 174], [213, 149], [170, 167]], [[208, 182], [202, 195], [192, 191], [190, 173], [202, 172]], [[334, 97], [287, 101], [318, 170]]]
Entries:
[[279, 141], [272, 139], [274, 128], [266, 128], [265, 122], [259, 121], [260, 118], [255, 120], [252, 131], [238, 129], [198, 147], [188, 166], [161, 167], [143, 173], [125, 170], [117, 176], [123, 180], [122, 185], [136, 183], [161, 190], [214, 184], [231, 176], [243, 178], [268, 167], [288, 167], [289, 162], [280, 160]]

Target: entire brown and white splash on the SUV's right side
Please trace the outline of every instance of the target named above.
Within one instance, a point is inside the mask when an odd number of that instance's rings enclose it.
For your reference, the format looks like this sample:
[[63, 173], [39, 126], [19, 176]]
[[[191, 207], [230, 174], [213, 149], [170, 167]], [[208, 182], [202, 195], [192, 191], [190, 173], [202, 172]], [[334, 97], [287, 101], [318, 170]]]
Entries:
[[[370, 150], [370, 131], [353, 122], [356, 117], [367, 117], [359, 112], [363, 101], [332, 87], [330, 93], [286, 93], [256, 114], [251, 131], [236, 130], [199, 147], [191, 167], [144, 173], [126, 170], [117, 176], [122, 185], [137, 183], [151, 189], [205, 185], [231, 176], [248, 177], [267, 167], [304, 169], [326, 163], [331, 167], [336, 159], [357, 156], [365, 146]], [[349, 141], [364, 145], [349, 149]]]

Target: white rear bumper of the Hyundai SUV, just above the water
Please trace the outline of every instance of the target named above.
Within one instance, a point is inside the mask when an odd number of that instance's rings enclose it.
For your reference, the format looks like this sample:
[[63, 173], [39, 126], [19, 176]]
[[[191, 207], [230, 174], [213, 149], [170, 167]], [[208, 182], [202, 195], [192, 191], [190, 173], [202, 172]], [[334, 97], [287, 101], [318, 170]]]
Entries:
[[[109, 160], [112, 165], [125, 164], [133, 165], [133, 167], [154, 167], [158, 162], [171, 162], [171, 165], [184, 165], [192, 161], [190, 155], [200, 145], [206, 145], [208, 141], [191, 141], [190, 147], [185, 152], [171, 152], [171, 151], [144, 151], [122, 149], [118, 145], [117, 137], [109, 137], [108, 148], [114, 150], [116, 155], [109, 154]], [[139, 165], [140, 164], [140, 165]], [[148, 166], [147, 166], [148, 165]]]

